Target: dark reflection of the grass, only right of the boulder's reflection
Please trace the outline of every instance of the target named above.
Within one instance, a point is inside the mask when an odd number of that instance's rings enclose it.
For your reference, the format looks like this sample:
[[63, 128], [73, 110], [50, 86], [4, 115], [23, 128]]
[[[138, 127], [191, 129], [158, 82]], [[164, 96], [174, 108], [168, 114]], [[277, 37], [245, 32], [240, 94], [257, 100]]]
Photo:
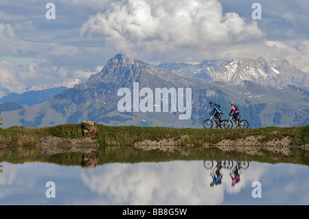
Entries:
[[237, 160], [237, 161], [258, 161], [265, 163], [298, 163], [309, 165], [309, 152], [303, 150], [292, 150], [293, 155], [286, 157], [282, 154], [265, 152], [264, 157], [250, 156], [237, 152], [223, 152], [218, 148], [186, 148], [179, 152], [167, 153], [160, 151], [136, 150], [129, 146], [102, 147], [98, 152], [98, 164], [104, 163], [139, 163], [139, 162], [164, 162], [164, 161], [200, 161], [200, 160]]

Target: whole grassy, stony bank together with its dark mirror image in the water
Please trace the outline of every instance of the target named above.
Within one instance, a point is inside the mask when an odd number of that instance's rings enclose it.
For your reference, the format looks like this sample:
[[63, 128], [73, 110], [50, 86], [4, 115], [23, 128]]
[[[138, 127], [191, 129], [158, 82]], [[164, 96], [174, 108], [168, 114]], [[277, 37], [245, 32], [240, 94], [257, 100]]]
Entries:
[[81, 163], [83, 154], [96, 154], [99, 163], [205, 157], [243, 157], [305, 165], [309, 161], [309, 126], [209, 130], [94, 125], [94, 134], [82, 130], [80, 124], [1, 128], [0, 161], [60, 159], [61, 163]]

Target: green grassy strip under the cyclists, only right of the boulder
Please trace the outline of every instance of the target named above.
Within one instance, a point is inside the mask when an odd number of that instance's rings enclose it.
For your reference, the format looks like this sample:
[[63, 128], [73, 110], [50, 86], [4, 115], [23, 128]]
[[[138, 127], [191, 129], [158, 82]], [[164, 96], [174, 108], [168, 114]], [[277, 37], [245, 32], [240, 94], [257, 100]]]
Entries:
[[202, 146], [203, 143], [218, 143], [224, 139], [242, 139], [251, 135], [262, 135], [262, 141], [291, 137], [294, 145], [309, 143], [309, 126], [292, 128], [247, 128], [247, 129], [201, 129], [201, 128], [164, 128], [164, 127], [138, 127], [138, 126], [99, 126], [98, 138], [104, 146], [109, 145], [133, 145], [137, 141], [150, 139], [168, 139], [174, 137], [179, 139], [187, 135], [184, 143], [193, 143]]

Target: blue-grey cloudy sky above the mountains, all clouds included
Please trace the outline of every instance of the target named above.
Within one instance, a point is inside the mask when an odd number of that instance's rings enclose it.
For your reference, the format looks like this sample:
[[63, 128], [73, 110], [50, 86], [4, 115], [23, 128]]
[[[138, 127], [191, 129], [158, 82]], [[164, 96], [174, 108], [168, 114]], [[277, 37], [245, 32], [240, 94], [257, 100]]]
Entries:
[[[252, 17], [255, 2], [262, 19]], [[286, 59], [308, 73], [308, 8], [308, 0], [1, 0], [0, 95], [87, 80], [118, 53], [153, 64]]]

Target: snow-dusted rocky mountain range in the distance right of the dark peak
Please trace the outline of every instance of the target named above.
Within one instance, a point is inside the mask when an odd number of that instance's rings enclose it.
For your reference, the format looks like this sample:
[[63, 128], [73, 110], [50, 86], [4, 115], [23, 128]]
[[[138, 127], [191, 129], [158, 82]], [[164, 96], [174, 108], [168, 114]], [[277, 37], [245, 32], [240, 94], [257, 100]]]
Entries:
[[205, 60], [198, 65], [187, 63], [161, 63], [158, 67], [183, 76], [201, 78], [208, 82], [242, 84], [251, 81], [267, 87], [309, 87], [308, 74], [290, 65], [287, 60], [266, 62], [264, 58], [252, 60]]

